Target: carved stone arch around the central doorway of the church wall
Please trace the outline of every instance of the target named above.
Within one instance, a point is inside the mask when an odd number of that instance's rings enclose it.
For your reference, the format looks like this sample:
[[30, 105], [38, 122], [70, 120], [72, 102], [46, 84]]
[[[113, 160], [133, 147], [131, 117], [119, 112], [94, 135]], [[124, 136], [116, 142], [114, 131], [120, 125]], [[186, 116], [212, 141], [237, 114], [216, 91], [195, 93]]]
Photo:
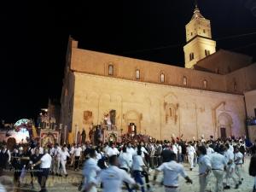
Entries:
[[131, 110], [125, 113], [124, 115], [125, 119], [125, 130], [124, 133], [128, 132], [128, 125], [131, 123], [134, 123], [137, 126], [137, 133], [142, 133], [141, 130], [141, 120], [142, 120], [142, 114], [138, 113], [136, 110]]

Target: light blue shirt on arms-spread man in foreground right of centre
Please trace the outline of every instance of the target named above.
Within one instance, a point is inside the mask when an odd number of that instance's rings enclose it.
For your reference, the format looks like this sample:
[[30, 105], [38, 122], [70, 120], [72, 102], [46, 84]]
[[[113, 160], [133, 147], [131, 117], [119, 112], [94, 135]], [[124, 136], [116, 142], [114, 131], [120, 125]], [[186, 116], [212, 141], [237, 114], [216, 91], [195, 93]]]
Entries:
[[174, 160], [163, 163], [156, 169], [160, 172], [164, 172], [164, 185], [166, 186], [178, 186], [179, 174], [182, 177], [188, 176], [187, 173], [184, 171], [183, 166]]

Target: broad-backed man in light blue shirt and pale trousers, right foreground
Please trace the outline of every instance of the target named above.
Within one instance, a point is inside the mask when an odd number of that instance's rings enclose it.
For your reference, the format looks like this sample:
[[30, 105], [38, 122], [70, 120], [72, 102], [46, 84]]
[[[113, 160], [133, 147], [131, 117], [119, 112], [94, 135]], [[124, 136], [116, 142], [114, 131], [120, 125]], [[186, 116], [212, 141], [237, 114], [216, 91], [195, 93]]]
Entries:
[[[219, 148], [224, 148], [224, 146], [220, 145]], [[224, 170], [227, 166], [227, 161], [221, 153], [222, 151], [220, 149], [215, 148], [215, 152], [209, 155], [212, 173], [216, 178], [215, 192], [223, 191]]]

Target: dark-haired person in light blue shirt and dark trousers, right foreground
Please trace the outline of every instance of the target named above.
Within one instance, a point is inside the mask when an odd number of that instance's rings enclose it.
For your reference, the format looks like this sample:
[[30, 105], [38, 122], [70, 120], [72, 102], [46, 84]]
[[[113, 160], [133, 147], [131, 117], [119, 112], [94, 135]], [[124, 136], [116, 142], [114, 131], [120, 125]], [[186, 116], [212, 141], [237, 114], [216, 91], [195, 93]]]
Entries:
[[212, 165], [209, 156], [207, 155], [207, 148], [205, 146], [199, 146], [197, 148], [198, 166], [199, 166], [199, 183], [200, 192], [205, 192], [207, 189], [208, 175], [211, 172]]

